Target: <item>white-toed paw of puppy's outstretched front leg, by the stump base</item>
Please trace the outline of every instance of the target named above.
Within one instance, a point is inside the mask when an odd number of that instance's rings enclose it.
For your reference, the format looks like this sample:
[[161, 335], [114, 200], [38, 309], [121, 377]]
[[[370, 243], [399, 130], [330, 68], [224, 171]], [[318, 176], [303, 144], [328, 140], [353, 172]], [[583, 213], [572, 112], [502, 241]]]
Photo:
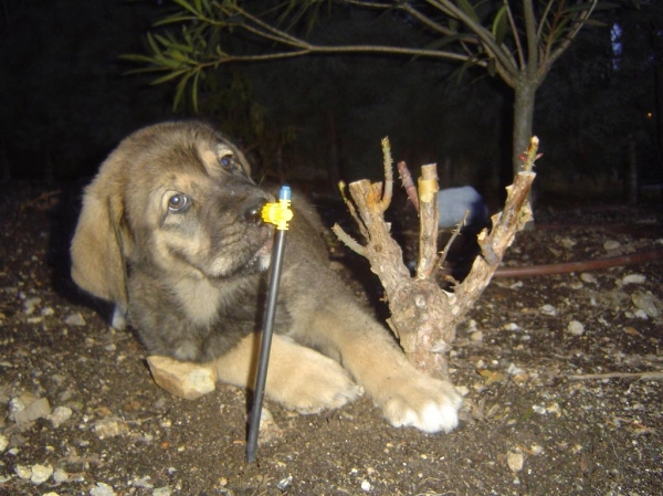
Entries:
[[391, 425], [423, 432], [451, 432], [459, 424], [463, 403], [451, 383], [417, 371], [409, 378], [390, 381], [382, 399], [382, 413]]

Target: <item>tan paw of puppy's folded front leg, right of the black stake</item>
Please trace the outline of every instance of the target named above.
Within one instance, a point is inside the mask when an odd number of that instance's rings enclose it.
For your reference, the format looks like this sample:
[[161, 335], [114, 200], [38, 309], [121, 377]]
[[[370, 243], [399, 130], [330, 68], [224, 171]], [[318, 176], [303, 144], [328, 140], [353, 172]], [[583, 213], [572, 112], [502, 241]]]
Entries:
[[337, 361], [309, 348], [297, 348], [294, 360], [270, 369], [266, 394], [271, 399], [288, 410], [312, 414], [340, 408], [364, 392]]

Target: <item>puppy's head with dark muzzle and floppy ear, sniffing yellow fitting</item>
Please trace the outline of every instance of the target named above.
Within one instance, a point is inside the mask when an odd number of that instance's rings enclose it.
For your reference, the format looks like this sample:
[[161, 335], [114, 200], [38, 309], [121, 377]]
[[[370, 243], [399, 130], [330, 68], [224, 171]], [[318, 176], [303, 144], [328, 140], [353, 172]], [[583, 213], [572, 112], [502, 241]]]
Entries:
[[230, 277], [269, 265], [273, 198], [244, 156], [202, 123], [166, 123], [126, 138], [85, 190], [72, 241], [72, 277], [127, 303], [129, 266], [162, 278]]

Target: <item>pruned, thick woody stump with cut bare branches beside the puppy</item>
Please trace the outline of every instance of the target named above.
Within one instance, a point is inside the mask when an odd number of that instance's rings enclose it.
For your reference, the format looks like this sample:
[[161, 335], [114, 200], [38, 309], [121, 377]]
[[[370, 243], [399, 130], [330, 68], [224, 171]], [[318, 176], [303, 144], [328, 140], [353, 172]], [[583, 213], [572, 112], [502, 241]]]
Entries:
[[[423, 166], [419, 179], [420, 211], [420, 251], [417, 276], [411, 277], [403, 263], [402, 251], [391, 238], [390, 225], [385, 222], [383, 213], [391, 201], [391, 152], [389, 141], [382, 141], [385, 156], [385, 190], [382, 183], [360, 180], [349, 184], [354, 200], [350, 212], [359, 225], [366, 245], [359, 245], [340, 226], [334, 232], [348, 246], [366, 256], [371, 271], [378, 275], [389, 302], [391, 317], [389, 326], [399, 338], [401, 347], [410, 360], [421, 370], [446, 378], [446, 351], [455, 336], [455, 326], [472, 307], [492, 275], [502, 262], [506, 249], [512, 244], [515, 233], [532, 219], [527, 194], [535, 173], [532, 172], [537, 155], [538, 139], [532, 138], [529, 149], [523, 156], [523, 171], [507, 188], [504, 210], [493, 217], [493, 229], [484, 230], [477, 240], [482, 256], [474, 261], [470, 274], [454, 293], [440, 288], [432, 277], [438, 262], [438, 176], [435, 166]], [[408, 192], [413, 183], [403, 173], [404, 163], [399, 171]], [[409, 182], [406, 182], [408, 181]]]

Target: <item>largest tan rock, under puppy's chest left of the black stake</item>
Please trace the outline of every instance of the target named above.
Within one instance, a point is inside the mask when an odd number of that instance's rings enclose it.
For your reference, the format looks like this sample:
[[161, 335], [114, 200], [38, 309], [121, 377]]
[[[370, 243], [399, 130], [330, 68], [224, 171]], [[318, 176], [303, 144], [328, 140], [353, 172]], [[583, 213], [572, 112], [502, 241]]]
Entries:
[[196, 400], [217, 388], [217, 373], [210, 367], [182, 362], [168, 357], [147, 357], [155, 382], [186, 400]]

